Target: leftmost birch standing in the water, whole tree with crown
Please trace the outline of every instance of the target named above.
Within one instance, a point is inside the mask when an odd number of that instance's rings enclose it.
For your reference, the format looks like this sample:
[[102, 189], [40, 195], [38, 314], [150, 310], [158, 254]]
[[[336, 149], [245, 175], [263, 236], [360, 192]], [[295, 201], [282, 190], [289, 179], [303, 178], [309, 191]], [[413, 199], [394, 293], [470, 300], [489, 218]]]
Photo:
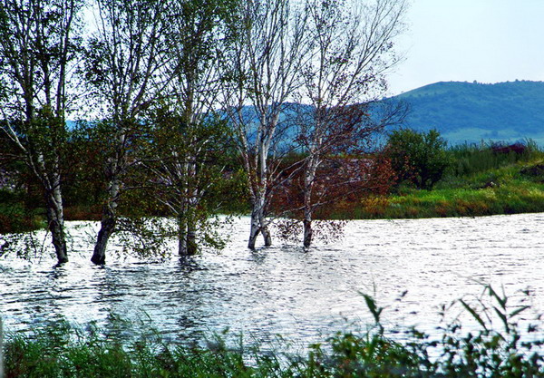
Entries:
[[59, 264], [68, 261], [62, 152], [82, 6], [79, 0], [0, 3], [1, 127], [44, 189], [47, 228]]

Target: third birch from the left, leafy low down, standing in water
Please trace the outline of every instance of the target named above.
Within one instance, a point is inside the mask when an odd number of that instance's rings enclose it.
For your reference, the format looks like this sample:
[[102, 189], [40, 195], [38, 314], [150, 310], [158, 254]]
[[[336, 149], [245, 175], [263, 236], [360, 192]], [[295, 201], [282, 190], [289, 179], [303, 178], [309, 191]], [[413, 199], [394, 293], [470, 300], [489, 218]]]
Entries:
[[[228, 129], [217, 115], [219, 45], [228, 2], [178, 0], [170, 3], [169, 60], [171, 78], [156, 118], [159, 147], [147, 165], [157, 177], [158, 200], [178, 223], [180, 256], [194, 255], [198, 232], [210, 242], [209, 210], [202, 200], [221, 180], [228, 150]], [[216, 240], [219, 241], [219, 240]], [[217, 244], [217, 243], [216, 243]]]

